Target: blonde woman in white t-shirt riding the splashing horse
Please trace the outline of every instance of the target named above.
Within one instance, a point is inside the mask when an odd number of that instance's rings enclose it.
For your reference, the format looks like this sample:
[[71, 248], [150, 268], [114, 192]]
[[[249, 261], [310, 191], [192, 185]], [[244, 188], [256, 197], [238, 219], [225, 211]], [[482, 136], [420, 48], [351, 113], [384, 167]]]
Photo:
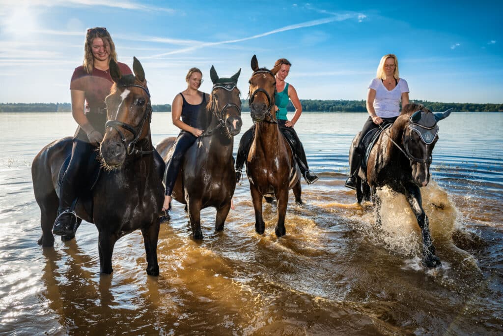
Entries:
[[363, 125], [357, 147], [350, 158], [350, 176], [344, 184], [348, 188], [356, 188], [356, 175], [363, 157], [363, 136], [379, 124], [393, 123], [400, 115], [400, 100], [402, 106], [408, 104], [408, 93], [407, 82], [398, 73], [396, 56], [382, 56], [377, 67], [377, 78], [372, 80], [367, 93], [367, 112], [370, 116]]

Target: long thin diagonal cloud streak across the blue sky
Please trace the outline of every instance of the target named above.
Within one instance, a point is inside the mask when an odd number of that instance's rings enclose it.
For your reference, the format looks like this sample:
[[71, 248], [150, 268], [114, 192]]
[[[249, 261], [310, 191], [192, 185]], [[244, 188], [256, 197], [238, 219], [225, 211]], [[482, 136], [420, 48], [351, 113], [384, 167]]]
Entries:
[[265, 36], [268, 36], [268, 35], [273, 35], [273, 34], [285, 32], [285, 31], [289, 31], [289, 30], [300, 29], [300, 28], [307, 28], [307, 27], [314, 27], [314, 26], [319, 26], [319, 25], [331, 23], [331, 22], [346, 21], [346, 20], [349, 20], [349, 19], [358, 18], [359, 15], [360, 14], [358, 14], [358, 13], [353, 13], [353, 14], [345, 13], [345, 14], [332, 15], [329, 18], [318, 19], [318, 20], [311, 20], [311, 21], [306, 21], [306, 22], [302, 22], [302, 23], [297, 23], [297, 24], [294, 24], [294, 25], [289, 25], [289, 26], [281, 27], [281, 28], [278, 28], [278, 29], [275, 29], [275, 30], [271, 30], [271, 31], [268, 31], [268, 32], [265, 32], [265, 33], [262, 33], [262, 34], [257, 34], [257, 35], [253, 35], [253, 36], [249, 36], [249, 37], [244, 37], [244, 38], [239, 38], [239, 39], [233, 39], [233, 40], [226, 40], [226, 41], [219, 41], [219, 42], [202, 42], [202, 43], [193, 45], [193, 46], [188, 47], [188, 48], [173, 50], [173, 51], [170, 51], [170, 52], [153, 55], [151, 57], [152, 58], [156, 58], [156, 57], [173, 55], [173, 54], [177, 54], [177, 53], [183, 53], [183, 52], [193, 51], [193, 50], [196, 50], [196, 49], [205, 48], [205, 47], [211, 47], [211, 46], [216, 46], [216, 45], [221, 45], [221, 44], [237, 43], [237, 42], [243, 42], [243, 41], [247, 41], [247, 40], [253, 40], [253, 39], [257, 39], [257, 38], [265, 37]]

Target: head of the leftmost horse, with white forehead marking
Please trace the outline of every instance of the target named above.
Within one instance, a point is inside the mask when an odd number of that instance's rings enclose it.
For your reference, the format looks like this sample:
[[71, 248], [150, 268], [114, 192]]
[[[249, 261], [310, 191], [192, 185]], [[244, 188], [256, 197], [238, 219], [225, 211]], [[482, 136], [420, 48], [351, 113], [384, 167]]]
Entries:
[[[100, 154], [104, 167], [117, 169], [124, 164], [128, 155], [153, 153], [152, 144], [148, 138], [152, 107], [145, 73], [136, 57], [133, 61], [134, 76], [123, 76], [113, 59], [110, 60], [109, 65], [114, 85], [105, 100], [108, 121], [105, 124], [106, 130], [100, 146]], [[145, 139], [148, 140], [148, 151], [137, 149], [137, 143]]]

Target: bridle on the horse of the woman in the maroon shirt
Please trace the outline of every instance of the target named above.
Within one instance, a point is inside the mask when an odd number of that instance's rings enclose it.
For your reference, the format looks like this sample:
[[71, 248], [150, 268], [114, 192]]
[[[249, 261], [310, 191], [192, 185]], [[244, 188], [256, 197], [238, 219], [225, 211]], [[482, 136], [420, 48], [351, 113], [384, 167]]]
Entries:
[[[111, 128], [115, 129], [119, 133], [119, 136], [121, 137], [122, 144], [124, 145], [124, 147], [126, 149], [126, 153], [128, 155], [132, 155], [132, 154], [140, 154], [140, 155], [153, 154], [153, 152], [154, 152], [153, 147], [149, 151], [143, 151], [143, 150], [139, 150], [139, 149], [135, 148], [135, 145], [136, 145], [136, 143], [138, 142], [138, 140], [139, 140], [139, 138], [141, 136], [143, 126], [145, 125], [145, 121], [147, 121], [147, 119], [148, 119], [149, 123], [152, 121], [152, 106], [150, 105], [150, 92], [148, 92], [148, 88], [146, 86], [141, 86], [141, 85], [137, 85], [137, 84], [124, 84], [124, 85], [121, 85], [119, 87], [120, 88], [136, 87], [136, 88], [140, 88], [143, 91], [145, 91], [145, 93], [148, 96], [148, 103], [146, 103], [146, 105], [145, 105], [145, 115], [144, 115], [143, 120], [141, 121], [141, 123], [136, 128], [134, 126], [132, 126], [130, 124], [127, 124], [125, 122], [122, 122], [122, 121], [108, 120], [105, 123], [105, 129], [107, 129], [108, 127], [111, 127]], [[124, 133], [120, 130], [119, 127], [122, 127], [122, 128], [124, 128], [124, 129], [126, 129], [126, 130], [128, 130], [128, 131], [130, 131], [132, 133], [133, 140], [131, 142], [129, 142], [129, 144], [127, 144], [126, 137], [124, 137]], [[150, 144], [150, 146], [152, 146], [152, 144]]]

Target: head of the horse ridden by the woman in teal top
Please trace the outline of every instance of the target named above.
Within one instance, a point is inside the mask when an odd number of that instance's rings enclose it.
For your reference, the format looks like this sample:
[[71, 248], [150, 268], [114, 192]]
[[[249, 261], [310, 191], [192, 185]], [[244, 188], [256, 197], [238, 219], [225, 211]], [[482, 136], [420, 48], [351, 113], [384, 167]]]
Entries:
[[279, 71], [280, 66], [268, 70], [266, 68], [259, 68], [259, 61], [257, 56], [253, 55], [251, 58], [251, 78], [249, 80], [249, 107], [251, 118], [255, 121], [262, 121], [269, 116], [272, 122], [276, 122], [276, 113], [271, 109], [275, 106], [276, 95], [276, 73]]

